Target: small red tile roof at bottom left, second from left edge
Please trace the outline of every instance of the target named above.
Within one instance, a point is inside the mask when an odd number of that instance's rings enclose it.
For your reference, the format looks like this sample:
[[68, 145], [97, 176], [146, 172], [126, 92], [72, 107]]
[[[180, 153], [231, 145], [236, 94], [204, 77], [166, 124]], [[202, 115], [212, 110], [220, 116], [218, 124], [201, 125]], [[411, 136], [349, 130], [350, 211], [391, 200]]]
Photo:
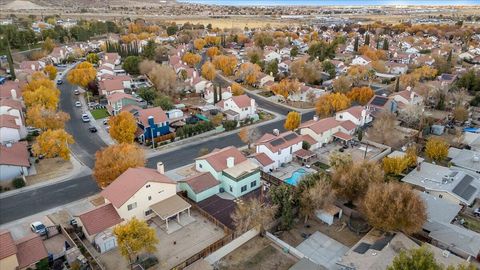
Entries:
[[24, 268], [48, 257], [40, 235], [31, 235], [17, 242], [18, 268]]

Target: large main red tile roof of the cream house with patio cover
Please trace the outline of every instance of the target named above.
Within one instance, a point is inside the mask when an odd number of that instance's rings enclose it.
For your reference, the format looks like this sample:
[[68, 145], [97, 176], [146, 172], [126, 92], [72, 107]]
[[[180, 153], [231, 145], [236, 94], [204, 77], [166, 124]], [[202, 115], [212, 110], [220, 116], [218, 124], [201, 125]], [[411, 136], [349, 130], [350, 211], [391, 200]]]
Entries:
[[154, 169], [129, 168], [102, 191], [102, 196], [118, 209], [148, 182], [176, 184]]

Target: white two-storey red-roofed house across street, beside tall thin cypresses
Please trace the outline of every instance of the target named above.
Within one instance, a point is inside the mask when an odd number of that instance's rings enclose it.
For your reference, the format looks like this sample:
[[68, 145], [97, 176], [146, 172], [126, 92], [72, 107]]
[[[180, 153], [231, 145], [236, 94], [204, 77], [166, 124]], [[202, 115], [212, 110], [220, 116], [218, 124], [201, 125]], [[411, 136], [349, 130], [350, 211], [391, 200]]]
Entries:
[[221, 100], [216, 106], [227, 115], [228, 120], [242, 121], [257, 113], [255, 100], [245, 94]]

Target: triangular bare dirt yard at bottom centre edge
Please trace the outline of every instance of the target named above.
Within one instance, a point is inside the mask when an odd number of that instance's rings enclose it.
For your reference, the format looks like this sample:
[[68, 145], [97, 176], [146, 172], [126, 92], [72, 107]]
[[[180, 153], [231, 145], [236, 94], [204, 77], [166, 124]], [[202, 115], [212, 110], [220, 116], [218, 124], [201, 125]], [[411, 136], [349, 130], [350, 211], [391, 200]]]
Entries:
[[218, 269], [289, 269], [297, 262], [268, 239], [255, 237], [218, 263]]

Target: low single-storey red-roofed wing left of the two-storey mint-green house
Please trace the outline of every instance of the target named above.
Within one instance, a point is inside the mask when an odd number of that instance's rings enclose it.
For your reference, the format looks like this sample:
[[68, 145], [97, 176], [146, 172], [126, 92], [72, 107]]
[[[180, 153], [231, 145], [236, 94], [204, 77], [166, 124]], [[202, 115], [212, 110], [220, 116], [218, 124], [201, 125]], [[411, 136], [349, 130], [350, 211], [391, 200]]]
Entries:
[[221, 183], [210, 172], [198, 173], [180, 180], [180, 189], [187, 192], [187, 196], [201, 202], [220, 192]]

